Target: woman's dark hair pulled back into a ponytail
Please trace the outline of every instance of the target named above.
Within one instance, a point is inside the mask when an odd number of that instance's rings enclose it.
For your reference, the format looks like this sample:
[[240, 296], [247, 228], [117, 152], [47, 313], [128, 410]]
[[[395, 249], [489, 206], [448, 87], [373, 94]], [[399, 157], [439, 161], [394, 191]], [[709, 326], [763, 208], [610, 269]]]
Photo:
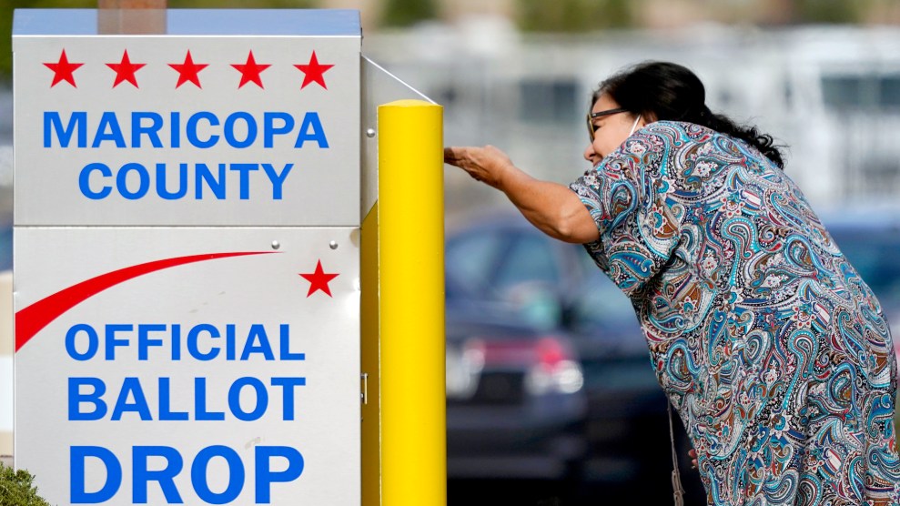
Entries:
[[691, 70], [668, 62], [644, 62], [611, 76], [594, 91], [591, 104], [607, 94], [620, 107], [657, 120], [686, 121], [737, 137], [756, 147], [784, 168], [781, 150], [772, 136], [755, 126], [739, 126], [706, 106], [706, 88]]

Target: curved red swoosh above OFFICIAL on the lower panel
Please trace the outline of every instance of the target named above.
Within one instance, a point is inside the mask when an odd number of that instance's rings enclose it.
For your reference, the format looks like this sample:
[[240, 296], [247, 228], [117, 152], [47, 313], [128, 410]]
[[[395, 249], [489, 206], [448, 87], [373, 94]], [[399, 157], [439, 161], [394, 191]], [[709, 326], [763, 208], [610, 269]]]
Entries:
[[136, 266], [120, 268], [96, 278], [63, 288], [55, 294], [40, 299], [27, 308], [15, 313], [15, 350], [18, 351], [35, 334], [44, 329], [51, 321], [59, 318], [67, 310], [74, 308], [86, 299], [94, 297], [106, 288], [115, 287], [129, 279], [144, 276], [164, 268], [172, 268], [194, 262], [215, 260], [216, 258], [244, 257], [247, 255], [268, 255], [276, 251], [245, 251], [235, 253], [207, 253], [204, 255], [191, 255], [189, 257], [166, 258], [139, 264]]

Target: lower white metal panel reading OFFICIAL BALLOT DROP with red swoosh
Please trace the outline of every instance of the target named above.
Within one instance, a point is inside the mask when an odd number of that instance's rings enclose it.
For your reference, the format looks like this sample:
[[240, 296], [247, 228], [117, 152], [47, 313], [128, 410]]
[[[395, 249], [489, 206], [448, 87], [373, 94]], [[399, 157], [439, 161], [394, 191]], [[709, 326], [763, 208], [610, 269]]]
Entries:
[[20, 231], [53, 276], [16, 279], [16, 465], [60, 504], [358, 504], [357, 234]]

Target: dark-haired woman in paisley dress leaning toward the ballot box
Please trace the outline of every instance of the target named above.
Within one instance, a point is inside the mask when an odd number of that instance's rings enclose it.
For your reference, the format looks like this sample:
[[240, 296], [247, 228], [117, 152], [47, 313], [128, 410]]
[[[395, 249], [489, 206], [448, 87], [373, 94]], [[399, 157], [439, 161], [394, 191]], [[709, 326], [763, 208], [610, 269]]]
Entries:
[[705, 106], [683, 66], [604, 81], [570, 187], [494, 147], [445, 160], [632, 300], [710, 504], [900, 504], [896, 364], [872, 291], [782, 171], [772, 137]]

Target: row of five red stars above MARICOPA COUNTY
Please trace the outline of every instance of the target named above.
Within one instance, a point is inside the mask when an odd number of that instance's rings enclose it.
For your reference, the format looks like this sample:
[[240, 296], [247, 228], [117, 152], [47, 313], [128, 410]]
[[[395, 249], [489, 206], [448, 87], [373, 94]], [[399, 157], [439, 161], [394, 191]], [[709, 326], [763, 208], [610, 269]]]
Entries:
[[[70, 62], [68, 56], [66, 56], [66, 49], [63, 49], [62, 54], [59, 56], [59, 61], [56, 63], [46, 63], [44, 66], [53, 71], [53, 82], [50, 84], [50, 87], [56, 86], [59, 83], [66, 81], [66, 83], [78, 87], [75, 83], [75, 71], [80, 67], [85, 65], [84, 63], [75, 63]], [[116, 80], [113, 81], [113, 87], [119, 86], [122, 83], [128, 82], [132, 86], [137, 86], [137, 76], [136, 73], [143, 66], [147, 64], [141, 63], [133, 63], [131, 59], [128, 57], [128, 50], [122, 54], [122, 60], [118, 63], [106, 64], [109, 68], [113, 69], [116, 72]], [[175, 87], [179, 87], [184, 85], [185, 83], [191, 83], [198, 88], [202, 88], [200, 86], [200, 71], [209, 66], [209, 64], [197, 64], [194, 63], [194, 59], [190, 55], [190, 51], [187, 51], [187, 56], [185, 56], [184, 63], [180, 64], [168, 64], [168, 66], [175, 69], [178, 73], [178, 82]], [[250, 51], [247, 56], [247, 62], [243, 64], [232, 64], [238, 72], [240, 72], [240, 83], [238, 84], [238, 88], [248, 84], [253, 83], [260, 88], [265, 88], [262, 84], [262, 77], [260, 74], [264, 70], [266, 70], [269, 64], [258, 64], [256, 59], [253, 57], [253, 51]], [[300, 64], [295, 65], [300, 72], [303, 73], [303, 84], [300, 85], [300, 89], [307, 87], [312, 83], [316, 83], [319, 86], [322, 86], [325, 89], [328, 89], [328, 86], [325, 86], [325, 72], [327, 72], [333, 65], [322, 65], [319, 63], [319, 58], [316, 56], [316, 52], [312, 52], [312, 56], [309, 56], [308, 64]]]

